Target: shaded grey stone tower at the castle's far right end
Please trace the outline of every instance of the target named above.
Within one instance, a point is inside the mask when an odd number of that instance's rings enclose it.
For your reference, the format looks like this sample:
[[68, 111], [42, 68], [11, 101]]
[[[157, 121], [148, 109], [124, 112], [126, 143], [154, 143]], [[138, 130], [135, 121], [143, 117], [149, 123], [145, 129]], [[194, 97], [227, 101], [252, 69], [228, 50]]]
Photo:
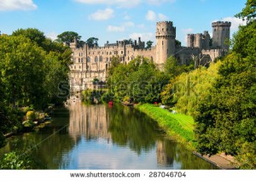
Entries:
[[212, 47], [229, 49], [229, 45], [225, 44], [230, 40], [230, 26], [231, 22], [217, 21], [212, 23]]

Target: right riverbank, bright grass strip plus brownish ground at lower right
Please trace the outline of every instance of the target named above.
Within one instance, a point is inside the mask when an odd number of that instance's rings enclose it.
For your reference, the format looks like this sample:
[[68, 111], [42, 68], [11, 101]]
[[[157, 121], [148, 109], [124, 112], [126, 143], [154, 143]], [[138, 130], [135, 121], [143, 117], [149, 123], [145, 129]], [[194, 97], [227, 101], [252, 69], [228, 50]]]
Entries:
[[193, 151], [195, 156], [199, 156], [221, 169], [236, 169], [237, 165], [233, 156], [224, 156], [223, 153], [215, 156], [201, 156], [195, 152], [196, 141], [193, 131], [195, 122], [192, 116], [173, 114], [159, 106], [149, 104], [136, 105], [135, 108], [158, 122], [168, 137], [183, 143], [187, 149]]

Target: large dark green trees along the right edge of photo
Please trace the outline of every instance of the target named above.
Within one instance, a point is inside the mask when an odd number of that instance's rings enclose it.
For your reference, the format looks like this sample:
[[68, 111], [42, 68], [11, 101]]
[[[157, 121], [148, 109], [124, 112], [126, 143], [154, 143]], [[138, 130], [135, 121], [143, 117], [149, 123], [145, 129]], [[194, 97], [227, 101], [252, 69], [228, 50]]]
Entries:
[[219, 77], [195, 116], [197, 149], [202, 154], [221, 151], [236, 156], [241, 168], [247, 169], [256, 165], [255, 24], [253, 20], [236, 33], [233, 52], [224, 58]]

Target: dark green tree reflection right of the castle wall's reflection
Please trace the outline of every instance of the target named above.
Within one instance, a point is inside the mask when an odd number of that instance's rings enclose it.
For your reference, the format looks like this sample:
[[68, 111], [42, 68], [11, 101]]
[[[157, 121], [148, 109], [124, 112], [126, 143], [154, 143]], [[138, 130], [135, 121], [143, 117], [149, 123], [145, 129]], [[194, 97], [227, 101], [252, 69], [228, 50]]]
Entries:
[[108, 131], [114, 144], [129, 145], [137, 154], [153, 149], [160, 134], [156, 122], [123, 105], [115, 105], [112, 109]]

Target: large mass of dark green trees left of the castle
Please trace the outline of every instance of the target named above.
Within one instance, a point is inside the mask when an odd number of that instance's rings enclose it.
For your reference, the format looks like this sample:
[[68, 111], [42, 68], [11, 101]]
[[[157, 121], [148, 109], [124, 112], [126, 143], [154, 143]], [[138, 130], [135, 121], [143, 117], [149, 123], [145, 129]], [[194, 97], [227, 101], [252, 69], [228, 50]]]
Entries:
[[42, 110], [67, 98], [60, 96], [59, 85], [67, 82], [71, 53], [37, 29], [0, 36], [0, 133], [20, 130], [20, 107]]

